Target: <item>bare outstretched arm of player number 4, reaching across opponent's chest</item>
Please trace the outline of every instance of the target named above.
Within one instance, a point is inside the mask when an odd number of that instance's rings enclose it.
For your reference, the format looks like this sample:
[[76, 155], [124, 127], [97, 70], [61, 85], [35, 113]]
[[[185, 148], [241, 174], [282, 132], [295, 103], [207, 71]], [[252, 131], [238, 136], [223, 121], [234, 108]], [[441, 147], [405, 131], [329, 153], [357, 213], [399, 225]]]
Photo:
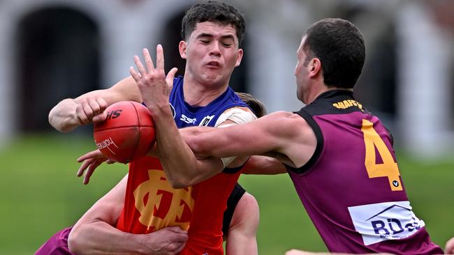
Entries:
[[301, 167], [309, 161], [317, 142], [305, 119], [286, 111], [244, 125], [195, 133], [184, 139], [198, 157], [268, 155], [291, 167]]

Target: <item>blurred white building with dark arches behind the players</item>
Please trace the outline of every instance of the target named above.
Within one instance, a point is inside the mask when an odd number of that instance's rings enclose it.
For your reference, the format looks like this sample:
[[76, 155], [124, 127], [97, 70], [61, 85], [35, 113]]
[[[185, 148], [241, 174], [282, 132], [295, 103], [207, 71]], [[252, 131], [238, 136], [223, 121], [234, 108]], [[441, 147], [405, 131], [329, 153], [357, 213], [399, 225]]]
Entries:
[[[195, 2], [0, 1], [0, 141], [51, 130], [52, 106], [126, 77], [142, 47], [162, 43], [166, 67], [184, 65], [177, 55], [180, 19]], [[425, 157], [453, 155], [454, 26], [439, 19], [452, 2], [442, 8], [439, 1], [405, 0], [230, 2], [247, 17], [245, 59], [232, 85], [263, 100], [269, 112], [302, 106], [293, 70], [305, 27], [344, 17], [367, 43], [358, 100], [388, 124], [398, 147]]]

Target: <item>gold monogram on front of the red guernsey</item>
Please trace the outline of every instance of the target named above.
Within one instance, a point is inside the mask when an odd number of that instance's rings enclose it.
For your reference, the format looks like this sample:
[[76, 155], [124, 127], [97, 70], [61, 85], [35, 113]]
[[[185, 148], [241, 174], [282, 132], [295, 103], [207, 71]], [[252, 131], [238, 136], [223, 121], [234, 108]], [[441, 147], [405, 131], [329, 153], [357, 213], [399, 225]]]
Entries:
[[150, 227], [154, 231], [165, 226], [180, 226], [187, 230], [194, 205], [192, 187], [173, 189], [161, 170], [148, 170], [148, 176], [149, 180], [134, 191], [139, 222], [147, 226], [147, 231]]

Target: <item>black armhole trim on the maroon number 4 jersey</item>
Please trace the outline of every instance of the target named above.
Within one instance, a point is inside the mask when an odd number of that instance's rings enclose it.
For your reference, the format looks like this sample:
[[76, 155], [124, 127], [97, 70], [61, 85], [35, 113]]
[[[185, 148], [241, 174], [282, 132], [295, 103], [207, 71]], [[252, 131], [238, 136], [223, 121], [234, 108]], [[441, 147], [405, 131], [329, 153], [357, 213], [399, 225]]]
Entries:
[[302, 167], [299, 168], [290, 167], [284, 164], [287, 170], [293, 171], [294, 173], [303, 174], [307, 173], [317, 162], [318, 157], [320, 157], [321, 151], [323, 150], [323, 134], [321, 132], [320, 127], [318, 127], [316, 121], [314, 121], [314, 118], [312, 118], [312, 116], [308, 114], [307, 111], [301, 109], [300, 111], [295, 111], [294, 113], [300, 115], [302, 118], [305, 119], [305, 121], [307, 121], [307, 123], [312, 127], [312, 130], [314, 130], [315, 137], [317, 139], [317, 145], [314, 154], [306, 164], [302, 165]]

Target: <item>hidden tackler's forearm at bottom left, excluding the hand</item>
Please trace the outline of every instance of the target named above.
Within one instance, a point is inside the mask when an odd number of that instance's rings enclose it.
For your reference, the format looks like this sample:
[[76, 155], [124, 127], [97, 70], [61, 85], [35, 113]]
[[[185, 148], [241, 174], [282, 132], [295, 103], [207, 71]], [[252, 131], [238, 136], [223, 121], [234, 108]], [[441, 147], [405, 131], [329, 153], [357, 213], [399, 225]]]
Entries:
[[100, 221], [73, 229], [68, 247], [71, 252], [80, 255], [144, 254], [142, 238], [145, 235], [126, 233]]

